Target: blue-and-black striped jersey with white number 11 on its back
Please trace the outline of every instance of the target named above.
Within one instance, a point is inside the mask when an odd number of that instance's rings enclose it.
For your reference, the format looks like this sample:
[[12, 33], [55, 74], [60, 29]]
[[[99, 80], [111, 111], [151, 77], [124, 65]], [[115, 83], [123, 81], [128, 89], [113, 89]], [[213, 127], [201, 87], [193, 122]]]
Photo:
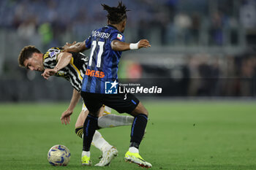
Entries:
[[91, 55], [83, 78], [82, 90], [89, 93], [105, 93], [105, 82], [118, 82], [118, 63], [121, 51], [114, 51], [111, 42], [124, 42], [124, 35], [114, 26], [105, 26], [91, 32], [86, 47]]

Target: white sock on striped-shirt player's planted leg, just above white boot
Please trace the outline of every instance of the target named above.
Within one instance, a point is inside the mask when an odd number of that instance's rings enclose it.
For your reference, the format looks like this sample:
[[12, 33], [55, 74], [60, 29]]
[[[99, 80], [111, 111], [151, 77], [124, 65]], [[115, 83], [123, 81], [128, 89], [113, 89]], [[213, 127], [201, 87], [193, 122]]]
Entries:
[[91, 144], [93, 144], [102, 152], [104, 152], [105, 150], [109, 150], [112, 147], [107, 141], [105, 141], [99, 131], [95, 131]]

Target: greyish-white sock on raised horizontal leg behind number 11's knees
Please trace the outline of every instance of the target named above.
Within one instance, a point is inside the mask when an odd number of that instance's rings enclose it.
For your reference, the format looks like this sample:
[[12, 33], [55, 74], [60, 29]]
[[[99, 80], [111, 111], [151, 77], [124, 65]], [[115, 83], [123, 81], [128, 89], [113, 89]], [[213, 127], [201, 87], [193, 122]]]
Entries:
[[132, 125], [134, 117], [108, 114], [98, 118], [100, 128], [112, 128], [121, 125]]

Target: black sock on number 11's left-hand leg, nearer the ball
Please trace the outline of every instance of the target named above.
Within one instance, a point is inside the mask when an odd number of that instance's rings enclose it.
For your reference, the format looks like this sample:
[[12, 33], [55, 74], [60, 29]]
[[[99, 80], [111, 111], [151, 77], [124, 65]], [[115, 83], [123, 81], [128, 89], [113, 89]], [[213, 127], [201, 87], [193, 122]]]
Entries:
[[98, 124], [98, 117], [88, 115], [83, 123], [83, 150], [90, 151], [91, 141]]

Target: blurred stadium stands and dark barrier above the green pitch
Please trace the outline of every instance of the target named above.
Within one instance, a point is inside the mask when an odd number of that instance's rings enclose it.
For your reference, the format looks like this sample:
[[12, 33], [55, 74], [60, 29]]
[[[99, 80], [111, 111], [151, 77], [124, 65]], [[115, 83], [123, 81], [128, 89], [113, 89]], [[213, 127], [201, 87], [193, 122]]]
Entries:
[[[121, 78], [157, 78], [165, 97], [255, 99], [255, 0], [123, 2], [131, 9], [126, 41], [152, 47], [123, 53]], [[117, 1], [1, 0], [0, 101], [69, 100], [69, 82], [19, 68], [18, 54], [26, 45], [44, 53], [83, 41], [106, 24], [100, 3]]]

